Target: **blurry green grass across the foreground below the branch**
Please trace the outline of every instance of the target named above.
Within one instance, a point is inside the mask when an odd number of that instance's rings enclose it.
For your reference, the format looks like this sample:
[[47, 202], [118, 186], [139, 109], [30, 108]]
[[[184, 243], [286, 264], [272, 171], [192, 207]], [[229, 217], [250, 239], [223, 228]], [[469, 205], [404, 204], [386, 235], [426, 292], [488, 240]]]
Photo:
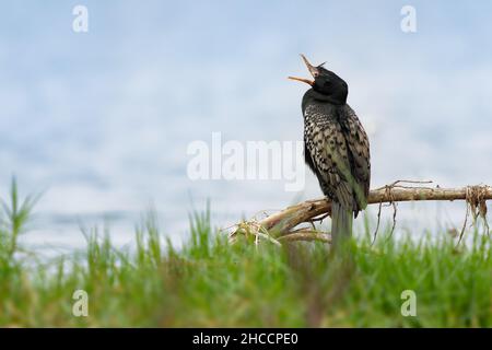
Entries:
[[[19, 246], [35, 198], [21, 202], [15, 183], [10, 197], [0, 215], [0, 326], [492, 326], [487, 235], [459, 249], [445, 233], [374, 246], [358, 238], [332, 254], [323, 244], [231, 245], [206, 211], [190, 218], [179, 249], [149, 214], [133, 250], [94, 229], [84, 232], [84, 252], [46, 260]], [[80, 289], [87, 317], [72, 315]], [[415, 292], [417, 316], [401, 315], [403, 290]]]

